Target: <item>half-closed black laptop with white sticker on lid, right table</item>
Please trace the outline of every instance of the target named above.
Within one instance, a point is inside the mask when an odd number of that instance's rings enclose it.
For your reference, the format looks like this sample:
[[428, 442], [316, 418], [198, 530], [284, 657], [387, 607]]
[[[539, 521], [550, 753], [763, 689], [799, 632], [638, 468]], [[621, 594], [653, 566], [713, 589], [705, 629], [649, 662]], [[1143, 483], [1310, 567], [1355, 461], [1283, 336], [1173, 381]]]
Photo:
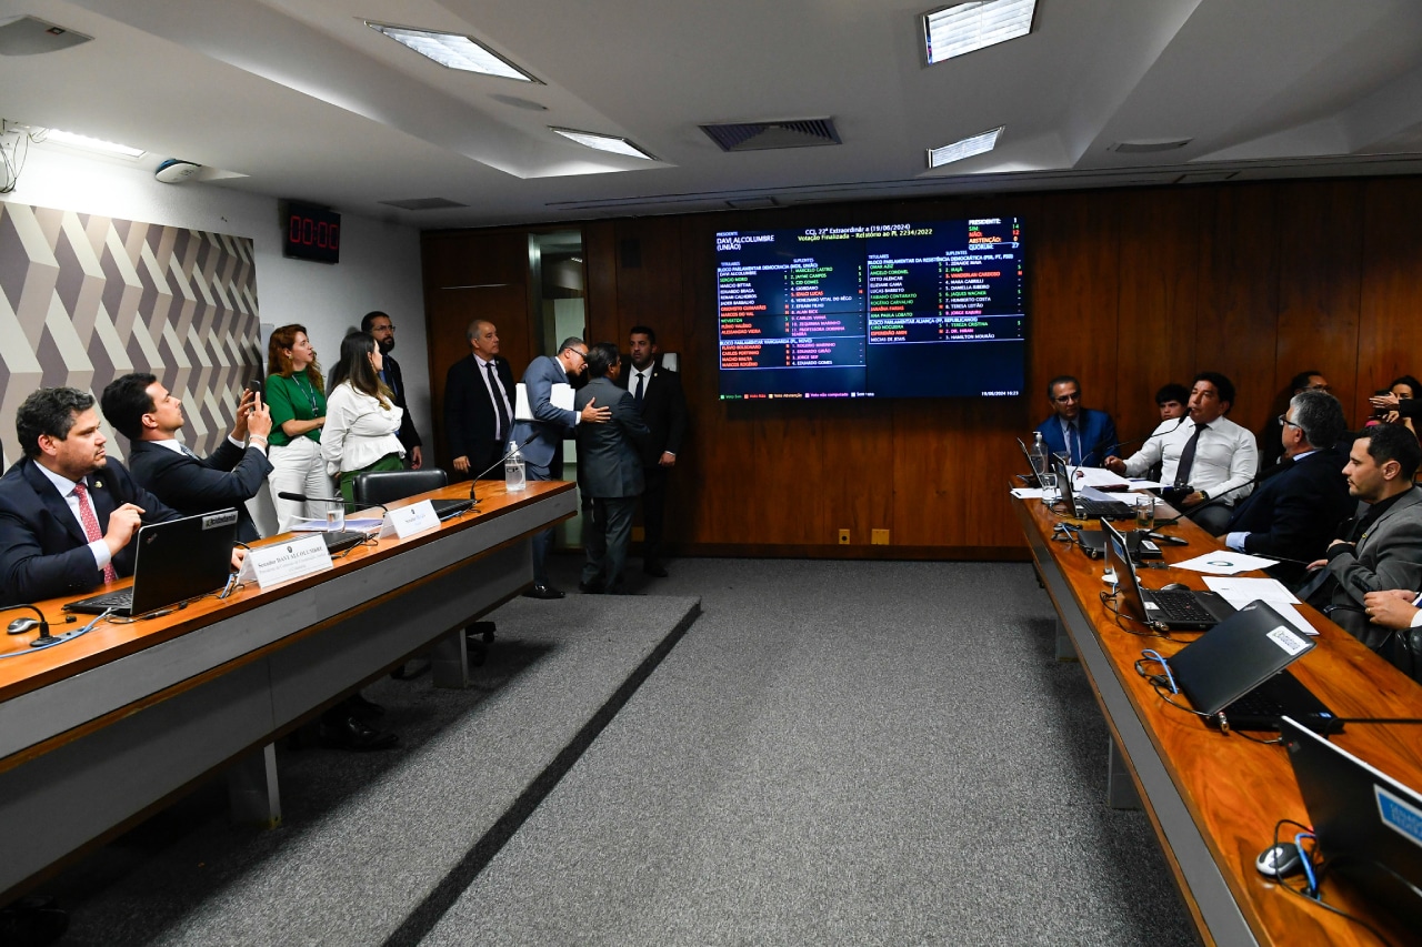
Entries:
[[1251, 601], [1169, 658], [1190, 705], [1233, 729], [1271, 731], [1287, 715], [1311, 729], [1335, 714], [1284, 668], [1314, 648], [1267, 601]]

